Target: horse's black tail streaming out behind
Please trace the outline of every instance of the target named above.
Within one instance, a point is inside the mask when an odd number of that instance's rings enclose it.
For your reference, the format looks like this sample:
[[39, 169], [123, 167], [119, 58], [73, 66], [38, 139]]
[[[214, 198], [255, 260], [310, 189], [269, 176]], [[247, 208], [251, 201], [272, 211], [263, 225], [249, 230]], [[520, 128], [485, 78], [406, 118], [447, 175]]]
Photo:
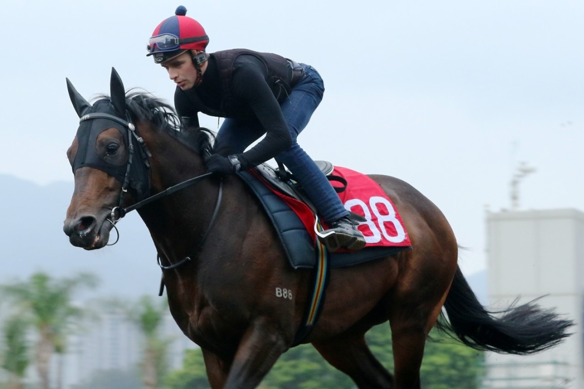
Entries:
[[478, 350], [518, 355], [543, 351], [571, 335], [566, 331], [573, 322], [542, 309], [536, 301], [520, 306], [514, 303], [506, 310], [489, 312], [458, 268], [444, 302], [450, 323], [441, 320], [437, 327], [452, 331], [465, 345]]

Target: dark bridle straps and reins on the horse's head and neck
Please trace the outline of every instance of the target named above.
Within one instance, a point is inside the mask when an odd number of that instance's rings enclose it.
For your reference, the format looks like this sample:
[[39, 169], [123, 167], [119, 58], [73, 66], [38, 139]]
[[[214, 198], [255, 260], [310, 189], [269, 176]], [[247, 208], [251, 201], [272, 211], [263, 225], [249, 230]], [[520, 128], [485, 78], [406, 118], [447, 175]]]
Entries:
[[[130, 205], [130, 206], [127, 206], [126, 208], [123, 208], [121, 206], [121, 204], [124, 200], [124, 194], [127, 193], [128, 187], [130, 187], [131, 178], [133, 178], [133, 177], [131, 177], [132, 176], [132, 169], [131, 168], [133, 167], [133, 164], [134, 164], [134, 167], [141, 170], [142, 174], [138, 174], [139, 176], [148, 177], [148, 183], [141, 183], [141, 184], [142, 185], [145, 184], [145, 185], [147, 185], [148, 188], [150, 188], [150, 175], [144, 174], [144, 173], [146, 171], [150, 170], [150, 162], [148, 161], [148, 159], [152, 157], [152, 154], [148, 150], [146, 143], [144, 142], [144, 139], [140, 135], [138, 135], [137, 128], [135, 127], [134, 123], [131, 120], [131, 115], [129, 113], [126, 113], [126, 116], [127, 116], [128, 120], [123, 120], [123, 119], [117, 117], [116, 115], [96, 112], [96, 113], [83, 115], [79, 119], [79, 123], [86, 121], [86, 120], [92, 120], [92, 119], [98, 119], [98, 118], [106, 119], [106, 120], [114, 121], [117, 124], [121, 124], [124, 128], [127, 129], [129, 155], [128, 155], [128, 160], [126, 162], [126, 174], [124, 176], [124, 180], [123, 180], [122, 185], [121, 185], [121, 190], [120, 190], [120, 195], [118, 197], [117, 205], [112, 208], [112, 212], [110, 212], [110, 216], [109, 216], [109, 218], [107, 218], [107, 220], [110, 223], [112, 223], [112, 227], [116, 230], [117, 239], [116, 239], [116, 241], [114, 241], [114, 243], [108, 244], [107, 246], [113, 246], [120, 239], [120, 234], [119, 234], [119, 230], [116, 227], [116, 223], [119, 222], [120, 219], [122, 219], [124, 216], [126, 216], [128, 212], [134, 211], [135, 209], [139, 209], [144, 205], [150, 204], [151, 202], [157, 201], [158, 199], [161, 199], [161, 198], [164, 198], [168, 195], [171, 195], [176, 191], [182, 190], [184, 188], [189, 187], [190, 185], [196, 184], [199, 181], [203, 180], [203, 178], [209, 177], [213, 174], [213, 173], [204, 173], [204, 174], [201, 174], [200, 176], [189, 178], [188, 180], [182, 181], [182, 183], [179, 183], [179, 184], [173, 185], [172, 187], [166, 188], [164, 191], [158, 192], [155, 195], [147, 196], [146, 198], [139, 199], [139, 201], [135, 202], [133, 205]], [[138, 145], [140, 147], [137, 148], [135, 145]], [[204, 153], [210, 153], [210, 150], [206, 149], [206, 150], [204, 150]], [[142, 160], [143, 163], [141, 163], [141, 164], [135, 163], [134, 159], [138, 159], [138, 161]], [[109, 173], [106, 169], [101, 169], [101, 170], [104, 170], [104, 171], [106, 171], [106, 173]], [[197, 244], [196, 248], [194, 248], [194, 250], [192, 251], [192, 254], [189, 254], [187, 257], [183, 258], [179, 262], [176, 262], [175, 264], [171, 264], [169, 266], [164, 266], [161, 264], [160, 255], [157, 253], [157, 262], [158, 262], [159, 267], [161, 267], [161, 269], [163, 269], [163, 270], [175, 269], [175, 268], [180, 267], [183, 264], [186, 264], [186, 262], [189, 262], [191, 260], [194, 253], [196, 253], [196, 251], [199, 250], [199, 248], [202, 246], [202, 244], [206, 240], [206, 238], [211, 230], [211, 227], [213, 227], [215, 219], [217, 219], [217, 214], [219, 212], [222, 198], [223, 198], [223, 180], [220, 180], [219, 191], [217, 194], [217, 201], [215, 202], [215, 209], [213, 211], [213, 215], [211, 216], [211, 220], [207, 226], [207, 229], [204, 232], [203, 237], [201, 238], [201, 240]]]

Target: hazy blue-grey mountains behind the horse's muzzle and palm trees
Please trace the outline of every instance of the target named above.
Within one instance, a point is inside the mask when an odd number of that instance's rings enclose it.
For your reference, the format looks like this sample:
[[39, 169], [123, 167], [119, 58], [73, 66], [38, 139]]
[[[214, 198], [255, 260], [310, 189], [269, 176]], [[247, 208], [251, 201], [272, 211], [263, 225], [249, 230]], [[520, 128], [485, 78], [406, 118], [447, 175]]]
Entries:
[[[117, 224], [117, 244], [86, 251], [71, 246], [62, 230], [72, 181], [41, 186], [0, 174], [0, 188], [0, 283], [24, 279], [39, 270], [55, 277], [88, 271], [100, 277], [100, 294], [137, 297], [158, 293], [161, 271], [156, 251], [137, 212], [128, 213]], [[115, 234], [113, 230], [112, 241]], [[469, 276], [468, 282], [485, 303], [485, 272]]]

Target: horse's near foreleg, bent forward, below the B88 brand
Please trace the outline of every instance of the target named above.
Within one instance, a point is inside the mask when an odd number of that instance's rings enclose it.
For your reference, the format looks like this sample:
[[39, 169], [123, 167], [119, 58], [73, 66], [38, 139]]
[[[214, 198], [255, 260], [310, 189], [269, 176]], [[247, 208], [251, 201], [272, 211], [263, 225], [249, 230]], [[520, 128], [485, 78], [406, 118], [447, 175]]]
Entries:
[[276, 323], [253, 321], [239, 343], [225, 389], [252, 389], [259, 385], [280, 355], [286, 351]]

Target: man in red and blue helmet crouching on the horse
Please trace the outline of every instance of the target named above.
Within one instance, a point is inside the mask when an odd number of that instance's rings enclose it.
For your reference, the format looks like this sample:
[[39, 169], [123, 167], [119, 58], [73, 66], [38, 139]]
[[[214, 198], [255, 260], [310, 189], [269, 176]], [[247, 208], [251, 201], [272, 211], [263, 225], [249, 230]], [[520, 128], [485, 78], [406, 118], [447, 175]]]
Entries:
[[[286, 165], [329, 227], [319, 239], [335, 251], [365, 246], [328, 179], [298, 145], [296, 138], [324, 93], [324, 83], [310, 65], [270, 53], [235, 49], [208, 54], [209, 38], [179, 6], [154, 29], [148, 54], [176, 83], [175, 107], [182, 124], [199, 127], [198, 113], [225, 120], [217, 132], [207, 171], [232, 174], [276, 159]], [[251, 149], [249, 145], [265, 138]]]

